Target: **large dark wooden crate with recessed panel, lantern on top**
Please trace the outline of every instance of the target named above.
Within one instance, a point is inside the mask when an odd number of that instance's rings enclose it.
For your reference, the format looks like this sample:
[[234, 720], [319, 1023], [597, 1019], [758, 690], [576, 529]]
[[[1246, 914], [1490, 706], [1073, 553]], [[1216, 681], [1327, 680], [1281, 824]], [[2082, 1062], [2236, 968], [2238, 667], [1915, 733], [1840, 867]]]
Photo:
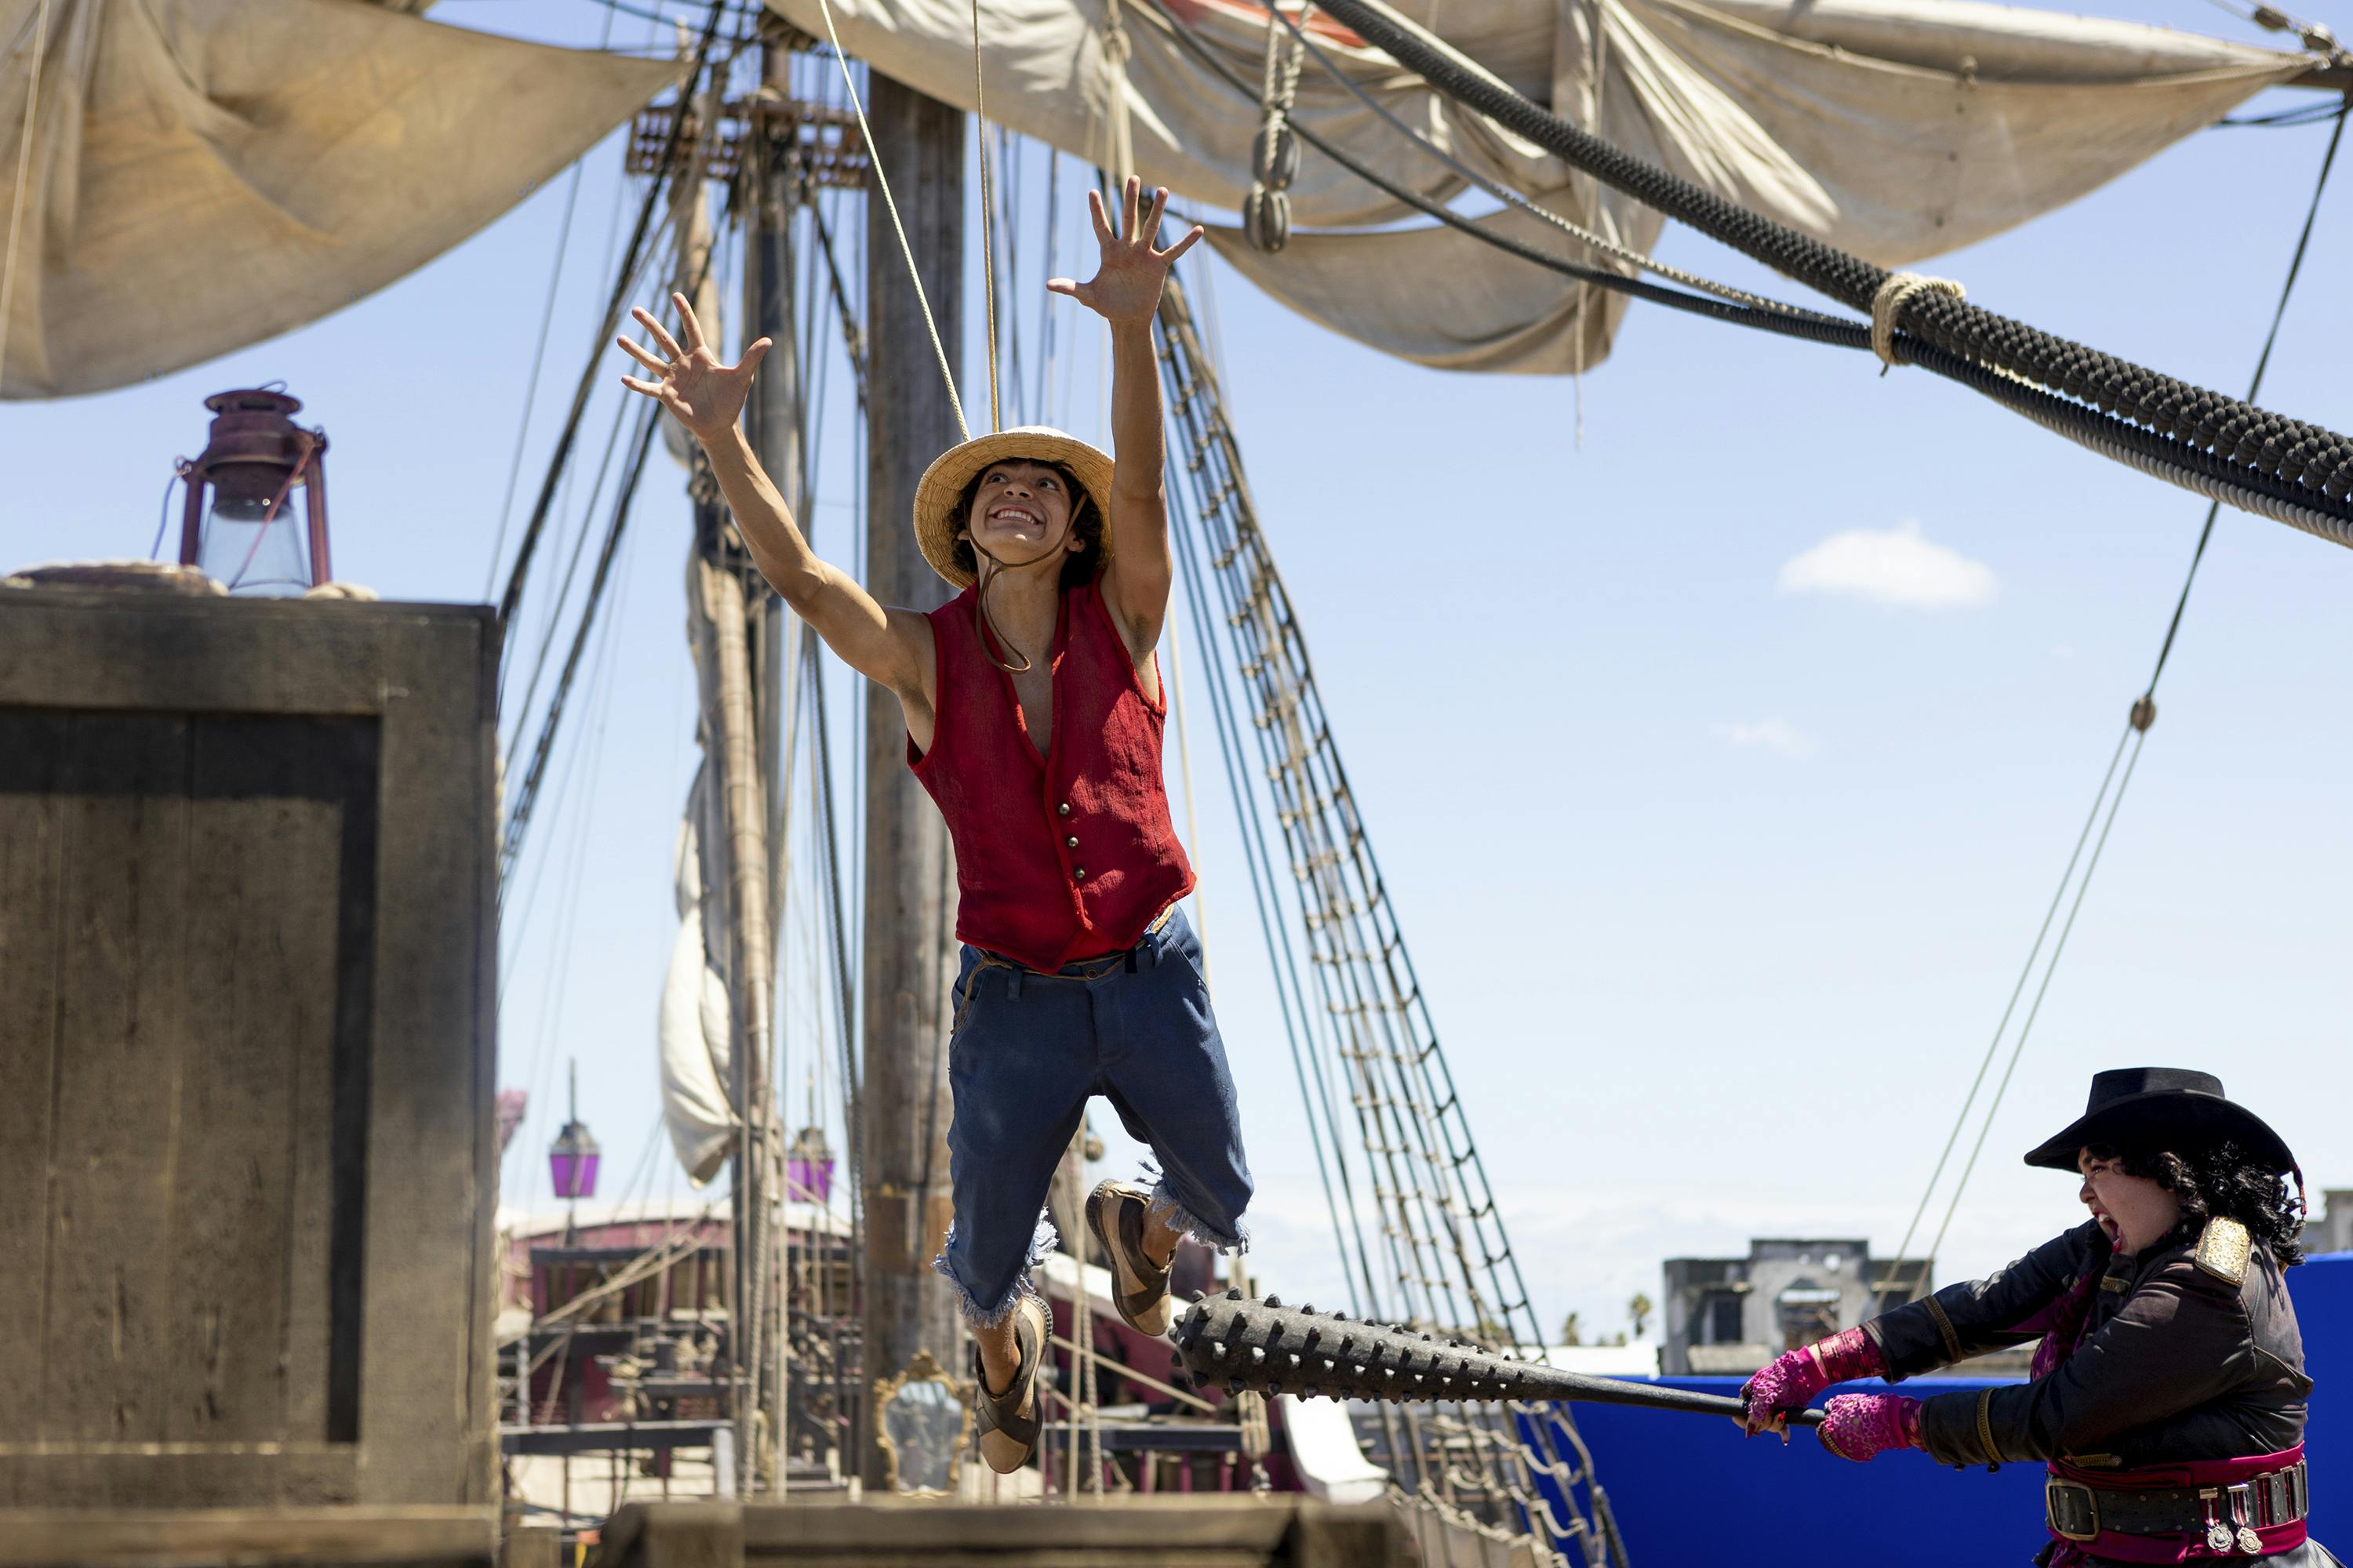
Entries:
[[0, 588], [0, 1507], [494, 1500], [485, 609]]

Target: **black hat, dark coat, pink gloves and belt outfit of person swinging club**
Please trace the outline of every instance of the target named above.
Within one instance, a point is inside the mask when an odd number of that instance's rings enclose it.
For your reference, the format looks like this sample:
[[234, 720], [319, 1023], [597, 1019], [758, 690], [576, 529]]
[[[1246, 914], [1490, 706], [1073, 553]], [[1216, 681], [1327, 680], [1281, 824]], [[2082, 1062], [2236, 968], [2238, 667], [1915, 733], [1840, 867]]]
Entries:
[[[2221, 1079], [2177, 1067], [2097, 1074], [2085, 1114], [2026, 1164], [2073, 1171], [2080, 1150], [2120, 1145], [2184, 1159], [2231, 1145], [2266, 1182], [2297, 1171], [2280, 1135], [2224, 1098]], [[1953, 1467], [2045, 1462], [2045, 1568], [2337, 1563], [2304, 1528], [2313, 1380], [2297, 1309], [2273, 1251], [2221, 1213], [2141, 1253], [2115, 1251], [2097, 1220], [2078, 1225], [1988, 1279], [1788, 1352], [1741, 1394], [1758, 1429], [1847, 1378], [1901, 1382], [2033, 1340], [2021, 1385], [1925, 1401], [1840, 1394], [1824, 1448], [1849, 1460], [1922, 1448]]]

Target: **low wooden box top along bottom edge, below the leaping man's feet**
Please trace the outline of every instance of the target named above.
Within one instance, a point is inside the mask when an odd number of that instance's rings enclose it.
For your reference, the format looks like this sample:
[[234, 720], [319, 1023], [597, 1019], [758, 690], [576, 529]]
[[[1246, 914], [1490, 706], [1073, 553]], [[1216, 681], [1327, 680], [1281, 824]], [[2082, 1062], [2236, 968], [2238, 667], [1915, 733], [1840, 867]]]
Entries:
[[1127, 1497], [1104, 1505], [633, 1502], [593, 1568], [1405, 1568], [1386, 1502]]

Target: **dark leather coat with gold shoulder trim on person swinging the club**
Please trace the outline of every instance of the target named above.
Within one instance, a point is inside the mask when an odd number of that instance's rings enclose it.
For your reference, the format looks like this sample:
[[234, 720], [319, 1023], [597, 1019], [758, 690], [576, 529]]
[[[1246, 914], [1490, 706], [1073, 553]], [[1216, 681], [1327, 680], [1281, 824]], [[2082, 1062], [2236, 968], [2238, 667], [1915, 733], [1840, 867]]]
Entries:
[[2231, 1272], [2228, 1255], [2217, 1269], [2214, 1248], [2200, 1244], [2118, 1258], [2087, 1220], [1864, 1331], [1897, 1382], [2042, 1338], [2038, 1319], [2099, 1274], [2073, 1356], [2033, 1382], [1922, 1401], [1920, 1446], [1944, 1465], [2141, 1467], [2278, 1453], [2304, 1441], [2313, 1392], [2297, 1309], [2266, 1248], [2242, 1255], [2240, 1279]]

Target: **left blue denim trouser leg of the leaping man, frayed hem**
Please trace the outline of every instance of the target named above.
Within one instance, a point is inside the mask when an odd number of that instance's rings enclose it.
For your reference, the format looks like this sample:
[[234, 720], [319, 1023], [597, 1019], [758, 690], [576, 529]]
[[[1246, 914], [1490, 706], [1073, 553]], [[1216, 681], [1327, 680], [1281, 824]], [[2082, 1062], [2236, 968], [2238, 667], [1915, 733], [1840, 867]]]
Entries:
[[1085, 990], [1005, 966], [958, 983], [948, 1046], [948, 1180], [955, 1225], [939, 1272], [955, 1281], [991, 1392], [1019, 1371], [1014, 1305], [1054, 1246], [1042, 1218], [1061, 1152], [1094, 1086]]

